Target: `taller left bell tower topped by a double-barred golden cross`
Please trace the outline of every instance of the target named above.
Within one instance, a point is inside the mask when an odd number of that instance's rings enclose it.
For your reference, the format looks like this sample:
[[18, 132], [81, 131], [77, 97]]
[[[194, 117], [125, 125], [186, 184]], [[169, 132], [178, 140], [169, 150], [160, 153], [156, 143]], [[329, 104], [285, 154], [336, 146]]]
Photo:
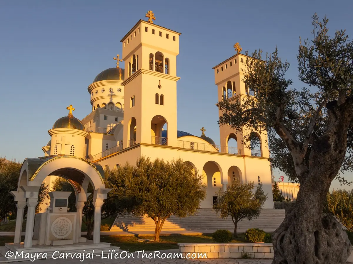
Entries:
[[[121, 39], [125, 62], [124, 148], [138, 143], [177, 146], [177, 55], [180, 33], [139, 20]], [[165, 126], [166, 125], [166, 126]], [[167, 138], [162, 137], [162, 128]]]

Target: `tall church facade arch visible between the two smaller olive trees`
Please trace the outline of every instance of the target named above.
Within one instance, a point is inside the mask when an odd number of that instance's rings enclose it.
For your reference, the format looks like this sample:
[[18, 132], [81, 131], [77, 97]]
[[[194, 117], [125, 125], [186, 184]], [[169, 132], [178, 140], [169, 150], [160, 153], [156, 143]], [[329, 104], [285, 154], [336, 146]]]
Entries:
[[207, 196], [201, 202], [201, 208], [213, 208], [213, 203], [216, 201], [216, 191], [222, 188], [222, 170], [218, 163], [208, 161], [202, 168], [203, 178], [207, 180]]

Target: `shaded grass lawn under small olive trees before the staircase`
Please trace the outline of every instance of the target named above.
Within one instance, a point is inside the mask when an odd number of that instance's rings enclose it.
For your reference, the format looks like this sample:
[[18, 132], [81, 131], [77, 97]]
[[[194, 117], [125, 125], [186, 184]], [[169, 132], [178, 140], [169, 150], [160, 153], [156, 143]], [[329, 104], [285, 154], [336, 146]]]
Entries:
[[[245, 234], [239, 233], [238, 238], [232, 240], [232, 243], [245, 243]], [[128, 251], [154, 251], [164, 249], [178, 249], [178, 243], [213, 243], [211, 234], [203, 235], [167, 235], [160, 236], [160, 242], [140, 242], [138, 239], [153, 240], [154, 236], [140, 235], [132, 236], [116, 236], [116, 235], [101, 235], [102, 242], [108, 242], [111, 245], [119, 246], [122, 250]]]

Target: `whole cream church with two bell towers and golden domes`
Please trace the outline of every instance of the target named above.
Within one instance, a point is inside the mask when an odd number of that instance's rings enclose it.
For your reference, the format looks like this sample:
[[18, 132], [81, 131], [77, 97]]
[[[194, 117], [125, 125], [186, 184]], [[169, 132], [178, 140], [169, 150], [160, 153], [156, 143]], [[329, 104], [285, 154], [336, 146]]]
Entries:
[[[73, 156], [110, 169], [127, 162], [135, 164], [141, 156], [181, 158], [203, 174], [207, 197], [201, 208], [212, 208], [216, 190], [225, 190], [227, 184], [239, 179], [262, 183], [268, 194], [264, 207], [273, 209], [267, 134], [255, 133], [259, 147], [248, 149], [242, 144], [249, 133], [246, 128], [237, 132], [220, 126], [221, 145], [206, 136], [204, 127], [198, 134], [179, 131], [177, 56], [181, 33], [154, 24], [152, 11], [146, 17], [148, 21], [139, 20], [121, 38], [121, 57], [114, 57], [116, 67], [92, 78], [88, 86], [92, 112], [79, 120], [73, 116], [72, 105], [67, 107], [68, 115], [48, 131], [51, 140], [42, 147], [44, 156]], [[246, 56], [240, 53], [239, 43], [234, 48], [234, 56], [213, 68], [218, 95], [215, 103], [241, 100], [249, 94], [242, 81]], [[119, 66], [122, 61], [125, 69]], [[237, 147], [229, 144], [231, 140]], [[47, 183], [53, 180], [50, 177]]]

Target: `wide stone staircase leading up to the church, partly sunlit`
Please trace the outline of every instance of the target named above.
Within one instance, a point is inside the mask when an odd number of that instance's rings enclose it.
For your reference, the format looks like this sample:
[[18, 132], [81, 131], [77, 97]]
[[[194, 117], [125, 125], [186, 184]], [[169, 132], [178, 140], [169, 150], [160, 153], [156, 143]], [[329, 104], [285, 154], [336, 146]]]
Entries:
[[[260, 228], [265, 232], [273, 232], [282, 223], [285, 210], [263, 209], [260, 216], [252, 221], [242, 220], [238, 223], [238, 232], [248, 228]], [[227, 229], [233, 232], [234, 224], [231, 218], [221, 219], [212, 209], [198, 209], [197, 214], [185, 218], [171, 216], [163, 225], [163, 231], [194, 231], [213, 233], [217, 229]], [[151, 218], [118, 217], [110, 231], [155, 231], [155, 223]]]

